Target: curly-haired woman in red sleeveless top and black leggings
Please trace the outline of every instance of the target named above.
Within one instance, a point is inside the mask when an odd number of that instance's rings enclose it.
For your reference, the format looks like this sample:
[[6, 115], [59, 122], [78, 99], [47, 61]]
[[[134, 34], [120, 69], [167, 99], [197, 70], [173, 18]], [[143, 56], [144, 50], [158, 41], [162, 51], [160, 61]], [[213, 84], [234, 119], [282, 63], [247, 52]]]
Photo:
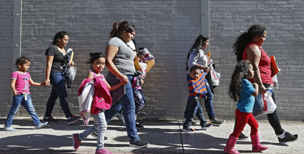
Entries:
[[[257, 83], [259, 93], [266, 93], [265, 87], [273, 84], [270, 58], [261, 47], [266, 40], [266, 34], [266, 27], [253, 25], [248, 29], [248, 32], [241, 34], [233, 44], [233, 52], [237, 56], [237, 61], [249, 60], [251, 62], [254, 76], [253, 79], [249, 81]], [[275, 102], [275, 92], [272, 93], [271, 97]], [[272, 114], [267, 114], [267, 117], [281, 144], [295, 142], [299, 139], [299, 135], [292, 135], [283, 130], [277, 110]], [[243, 140], [248, 139], [244, 134], [241, 134], [239, 138]]]

